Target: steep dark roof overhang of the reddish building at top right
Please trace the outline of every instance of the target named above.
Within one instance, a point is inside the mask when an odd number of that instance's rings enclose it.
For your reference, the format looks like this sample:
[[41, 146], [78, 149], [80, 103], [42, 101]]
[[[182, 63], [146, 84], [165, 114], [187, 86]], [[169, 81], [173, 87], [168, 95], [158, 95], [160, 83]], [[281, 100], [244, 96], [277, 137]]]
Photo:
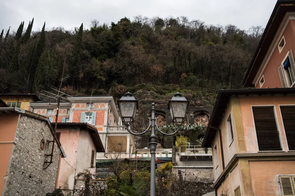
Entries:
[[266, 56], [266, 53], [276, 35], [276, 32], [281, 25], [285, 14], [287, 12], [295, 11], [295, 0], [278, 0], [272, 11], [272, 14], [268, 20], [265, 31], [258, 44], [258, 47], [253, 55], [251, 64], [249, 65], [245, 77], [243, 79], [243, 85], [245, 87], [253, 87], [252, 84], [259, 68]]

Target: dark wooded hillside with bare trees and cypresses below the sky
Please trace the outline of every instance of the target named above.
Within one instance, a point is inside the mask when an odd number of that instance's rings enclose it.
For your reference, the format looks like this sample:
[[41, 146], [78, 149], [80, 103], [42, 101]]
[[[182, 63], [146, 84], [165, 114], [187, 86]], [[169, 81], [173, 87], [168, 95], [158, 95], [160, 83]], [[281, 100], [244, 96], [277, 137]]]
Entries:
[[[26, 25], [27, 26], [27, 25]], [[187, 17], [92, 21], [74, 31], [31, 31], [33, 20], [0, 34], [0, 93], [32, 93], [59, 86], [71, 94], [121, 94], [124, 87], [181, 84], [240, 88], [263, 28], [206, 25]], [[2, 27], [7, 28], [7, 27]]]

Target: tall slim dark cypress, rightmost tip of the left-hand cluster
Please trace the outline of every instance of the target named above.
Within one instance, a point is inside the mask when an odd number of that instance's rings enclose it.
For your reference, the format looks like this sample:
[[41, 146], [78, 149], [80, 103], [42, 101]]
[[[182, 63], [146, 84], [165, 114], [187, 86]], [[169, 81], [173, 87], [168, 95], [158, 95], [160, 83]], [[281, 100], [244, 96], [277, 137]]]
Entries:
[[32, 61], [30, 62], [30, 78], [29, 78], [29, 90], [32, 91], [33, 90], [33, 83], [34, 83], [34, 79], [35, 79], [35, 73], [38, 67], [38, 63], [40, 60], [40, 57], [44, 51], [44, 47], [45, 47], [45, 23], [43, 25], [42, 31], [40, 33], [40, 39], [39, 42], [36, 46], [36, 49], [34, 51], [33, 54], [33, 58]]

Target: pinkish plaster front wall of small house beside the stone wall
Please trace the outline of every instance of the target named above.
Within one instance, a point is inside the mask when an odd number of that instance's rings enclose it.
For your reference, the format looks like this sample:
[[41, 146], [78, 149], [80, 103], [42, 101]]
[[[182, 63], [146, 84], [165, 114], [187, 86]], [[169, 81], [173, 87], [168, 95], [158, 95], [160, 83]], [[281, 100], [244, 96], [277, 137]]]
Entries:
[[74, 168], [76, 168], [80, 128], [58, 128], [57, 131], [60, 132], [59, 141], [66, 153], [66, 158], [61, 158], [60, 160], [57, 188], [73, 190], [76, 175], [76, 170]]

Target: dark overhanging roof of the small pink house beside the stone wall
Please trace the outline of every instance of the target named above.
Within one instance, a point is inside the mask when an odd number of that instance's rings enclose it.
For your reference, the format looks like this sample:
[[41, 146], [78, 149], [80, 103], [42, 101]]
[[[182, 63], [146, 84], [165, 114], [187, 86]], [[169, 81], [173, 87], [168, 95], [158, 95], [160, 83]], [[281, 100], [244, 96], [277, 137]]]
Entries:
[[[51, 123], [53, 126], [55, 123]], [[90, 125], [89, 123], [58, 123], [58, 128], [60, 127], [69, 127], [69, 126], [79, 126], [84, 130], [88, 130], [91, 138], [96, 146], [96, 152], [105, 152], [101, 139], [98, 135], [97, 129], [95, 126]]]

